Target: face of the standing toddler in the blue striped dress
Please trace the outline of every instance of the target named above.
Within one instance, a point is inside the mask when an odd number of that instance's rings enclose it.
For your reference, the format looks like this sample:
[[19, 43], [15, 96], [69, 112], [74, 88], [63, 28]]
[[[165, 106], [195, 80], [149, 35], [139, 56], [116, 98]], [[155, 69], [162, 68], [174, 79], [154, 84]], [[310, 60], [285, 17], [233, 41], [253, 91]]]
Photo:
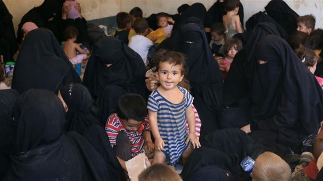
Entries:
[[182, 72], [183, 65], [174, 65], [168, 61], [162, 61], [159, 63], [158, 76], [161, 83], [161, 87], [165, 90], [171, 90], [176, 88], [178, 82], [182, 81], [184, 75]]

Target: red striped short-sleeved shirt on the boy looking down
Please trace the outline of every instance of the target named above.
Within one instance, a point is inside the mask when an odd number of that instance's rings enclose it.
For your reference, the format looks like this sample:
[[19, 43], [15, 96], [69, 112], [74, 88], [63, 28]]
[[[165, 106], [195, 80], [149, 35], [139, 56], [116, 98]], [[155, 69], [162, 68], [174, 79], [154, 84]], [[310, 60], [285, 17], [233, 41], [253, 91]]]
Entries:
[[117, 135], [120, 131], [124, 131], [131, 142], [131, 156], [135, 157], [143, 151], [144, 147], [144, 138], [143, 131], [150, 130], [150, 125], [148, 118], [142, 122], [136, 132], [126, 130], [121, 124], [120, 118], [117, 114], [112, 114], [109, 116], [108, 121], [105, 124], [105, 131], [109, 137], [111, 145], [116, 145]]

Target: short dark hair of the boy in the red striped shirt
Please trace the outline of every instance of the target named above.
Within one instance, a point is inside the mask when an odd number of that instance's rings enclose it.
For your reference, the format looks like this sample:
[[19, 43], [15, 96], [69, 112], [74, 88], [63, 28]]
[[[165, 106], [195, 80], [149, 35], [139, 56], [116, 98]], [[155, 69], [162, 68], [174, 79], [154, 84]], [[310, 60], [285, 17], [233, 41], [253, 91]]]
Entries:
[[147, 104], [139, 94], [125, 94], [118, 102], [118, 117], [122, 120], [144, 121], [147, 117]]

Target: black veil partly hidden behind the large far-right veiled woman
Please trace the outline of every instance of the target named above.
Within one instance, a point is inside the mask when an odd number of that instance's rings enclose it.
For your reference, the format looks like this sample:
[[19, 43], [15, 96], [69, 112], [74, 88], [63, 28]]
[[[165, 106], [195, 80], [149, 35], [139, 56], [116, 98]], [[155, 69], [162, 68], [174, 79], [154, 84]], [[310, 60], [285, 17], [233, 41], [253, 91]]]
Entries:
[[239, 102], [242, 101], [241, 99], [248, 96], [249, 86], [252, 81], [253, 67], [256, 63], [254, 49], [257, 42], [266, 35], [281, 35], [276, 26], [268, 22], [258, 23], [253, 30], [249, 32], [246, 45], [236, 54], [234, 61], [230, 66], [226, 81], [223, 84], [224, 107], [238, 106], [240, 104]]

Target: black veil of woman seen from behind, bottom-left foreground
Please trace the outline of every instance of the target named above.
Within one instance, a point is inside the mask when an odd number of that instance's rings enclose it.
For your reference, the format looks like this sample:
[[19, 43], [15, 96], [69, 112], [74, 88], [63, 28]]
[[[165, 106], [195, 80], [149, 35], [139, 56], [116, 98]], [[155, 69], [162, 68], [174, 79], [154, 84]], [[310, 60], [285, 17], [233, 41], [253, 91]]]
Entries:
[[30, 89], [18, 99], [14, 153], [4, 181], [106, 181], [101, 155], [76, 132], [63, 133], [65, 111], [47, 90]]

